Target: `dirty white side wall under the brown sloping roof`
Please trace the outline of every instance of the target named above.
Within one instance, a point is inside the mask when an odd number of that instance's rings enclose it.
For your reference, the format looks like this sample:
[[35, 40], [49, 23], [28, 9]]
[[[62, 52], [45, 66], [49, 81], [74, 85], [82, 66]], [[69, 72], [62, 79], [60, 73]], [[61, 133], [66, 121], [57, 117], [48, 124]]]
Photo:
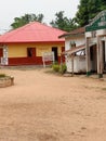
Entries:
[[[83, 36], [76, 36], [76, 37], [68, 37], [65, 39], [65, 51], [69, 50], [70, 47], [70, 41], [75, 41], [76, 47], [79, 47], [81, 44], [85, 43], [85, 38]], [[66, 66], [67, 66], [67, 72], [71, 73], [71, 57], [66, 56]], [[85, 72], [85, 56], [75, 56], [74, 57], [74, 73], [81, 73]]]

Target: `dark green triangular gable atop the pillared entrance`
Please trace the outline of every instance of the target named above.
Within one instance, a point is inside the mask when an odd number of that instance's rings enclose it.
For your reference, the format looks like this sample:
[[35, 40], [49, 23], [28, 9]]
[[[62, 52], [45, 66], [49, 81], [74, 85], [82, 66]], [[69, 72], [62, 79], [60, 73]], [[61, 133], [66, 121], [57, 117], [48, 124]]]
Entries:
[[95, 16], [93, 21], [85, 27], [85, 31], [98, 29], [106, 29], [106, 10]]

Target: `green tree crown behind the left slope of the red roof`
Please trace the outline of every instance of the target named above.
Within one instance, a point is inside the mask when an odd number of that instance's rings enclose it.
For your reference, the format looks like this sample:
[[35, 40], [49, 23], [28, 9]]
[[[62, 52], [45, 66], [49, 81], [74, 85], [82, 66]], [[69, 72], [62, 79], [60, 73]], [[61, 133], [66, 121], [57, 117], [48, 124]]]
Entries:
[[34, 22], [34, 21], [38, 21], [40, 23], [42, 23], [43, 21], [43, 14], [25, 14], [24, 16], [21, 16], [21, 17], [15, 17], [14, 18], [14, 23], [11, 24], [11, 27], [12, 29], [15, 29], [15, 28], [18, 28], [21, 26], [24, 26], [30, 22]]

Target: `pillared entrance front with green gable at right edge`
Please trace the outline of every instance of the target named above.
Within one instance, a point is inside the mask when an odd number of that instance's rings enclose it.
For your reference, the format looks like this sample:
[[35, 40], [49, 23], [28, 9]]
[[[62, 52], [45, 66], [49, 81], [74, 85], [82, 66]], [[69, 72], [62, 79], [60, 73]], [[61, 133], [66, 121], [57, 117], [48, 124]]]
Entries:
[[85, 27], [87, 74], [94, 69], [98, 77], [106, 72], [106, 10]]

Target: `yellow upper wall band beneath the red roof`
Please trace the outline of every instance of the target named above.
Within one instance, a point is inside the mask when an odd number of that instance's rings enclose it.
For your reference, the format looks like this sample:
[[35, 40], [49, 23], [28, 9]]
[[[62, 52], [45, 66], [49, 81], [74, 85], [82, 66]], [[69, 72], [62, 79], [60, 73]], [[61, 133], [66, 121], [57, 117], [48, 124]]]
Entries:
[[58, 55], [62, 53], [62, 47], [64, 43], [9, 43], [8, 51], [9, 57], [26, 57], [27, 56], [27, 48], [36, 48], [36, 55], [42, 56], [43, 52], [51, 52], [52, 47], [58, 48]]

